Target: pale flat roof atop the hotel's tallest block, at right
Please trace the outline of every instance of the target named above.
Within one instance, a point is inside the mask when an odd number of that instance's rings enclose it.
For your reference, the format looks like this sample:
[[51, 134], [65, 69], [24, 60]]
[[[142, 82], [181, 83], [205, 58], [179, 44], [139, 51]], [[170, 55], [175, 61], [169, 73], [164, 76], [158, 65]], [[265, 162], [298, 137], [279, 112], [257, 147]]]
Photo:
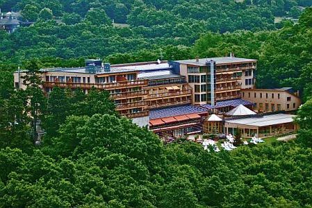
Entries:
[[190, 60], [178, 60], [180, 64], [191, 64], [196, 66], [206, 66], [206, 62], [213, 60], [215, 64], [231, 64], [231, 63], [240, 63], [240, 62], [256, 62], [255, 59], [249, 58], [237, 58], [237, 57], [213, 57], [213, 58], [199, 58], [197, 62], [196, 59]]

